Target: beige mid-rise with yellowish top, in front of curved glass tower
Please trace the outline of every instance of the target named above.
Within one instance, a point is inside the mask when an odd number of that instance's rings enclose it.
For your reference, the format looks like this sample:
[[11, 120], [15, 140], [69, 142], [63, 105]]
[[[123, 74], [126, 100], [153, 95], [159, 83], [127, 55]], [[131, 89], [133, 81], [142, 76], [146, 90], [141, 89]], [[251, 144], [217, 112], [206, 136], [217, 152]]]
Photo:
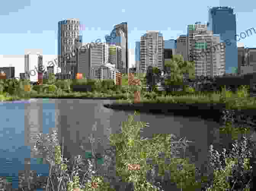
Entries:
[[110, 45], [109, 46], [109, 63], [114, 64], [116, 69], [122, 73], [123, 65], [122, 65], [122, 47]]

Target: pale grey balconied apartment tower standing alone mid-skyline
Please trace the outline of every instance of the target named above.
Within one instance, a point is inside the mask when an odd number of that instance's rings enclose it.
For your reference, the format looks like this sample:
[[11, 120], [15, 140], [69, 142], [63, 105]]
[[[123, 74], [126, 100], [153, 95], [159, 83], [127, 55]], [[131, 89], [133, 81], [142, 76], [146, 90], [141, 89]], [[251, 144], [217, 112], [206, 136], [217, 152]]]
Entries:
[[141, 36], [140, 71], [146, 73], [148, 66], [163, 70], [164, 66], [163, 35], [159, 31], [147, 31]]

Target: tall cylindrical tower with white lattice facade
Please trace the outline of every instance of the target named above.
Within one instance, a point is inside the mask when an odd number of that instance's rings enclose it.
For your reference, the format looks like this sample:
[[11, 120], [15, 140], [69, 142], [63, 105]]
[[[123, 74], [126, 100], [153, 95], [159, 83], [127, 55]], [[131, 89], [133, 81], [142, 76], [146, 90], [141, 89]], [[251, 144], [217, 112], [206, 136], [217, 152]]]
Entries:
[[[66, 57], [75, 54], [75, 39], [80, 39], [82, 42], [82, 35], [79, 34], [80, 22], [78, 19], [67, 19], [58, 22], [58, 66], [62, 73], [67, 73]], [[73, 58], [73, 57], [72, 57]]]

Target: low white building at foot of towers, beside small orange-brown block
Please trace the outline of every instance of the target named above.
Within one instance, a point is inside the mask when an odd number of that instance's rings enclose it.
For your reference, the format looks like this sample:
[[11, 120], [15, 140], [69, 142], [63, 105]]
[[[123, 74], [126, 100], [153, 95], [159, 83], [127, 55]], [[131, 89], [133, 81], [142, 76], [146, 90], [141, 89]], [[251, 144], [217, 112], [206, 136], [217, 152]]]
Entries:
[[113, 79], [116, 83], [116, 73], [118, 70], [111, 63], [104, 63], [91, 69], [91, 77], [93, 79]]

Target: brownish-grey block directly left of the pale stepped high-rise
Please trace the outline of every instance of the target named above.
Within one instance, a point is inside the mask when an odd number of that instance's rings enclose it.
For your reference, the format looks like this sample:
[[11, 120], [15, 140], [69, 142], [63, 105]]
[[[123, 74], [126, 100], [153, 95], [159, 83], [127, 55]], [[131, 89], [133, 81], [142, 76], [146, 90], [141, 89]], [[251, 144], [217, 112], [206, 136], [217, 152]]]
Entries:
[[[175, 43], [173, 42], [173, 45]], [[178, 38], [177, 38], [177, 41], [176, 41], [176, 52], [175, 54], [180, 54], [182, 55], [183, 57], [183, 60], [184, 61], [187, 61], [188, 60], [188, 54], [187, 54], [187, 35], [180, 35]]]

